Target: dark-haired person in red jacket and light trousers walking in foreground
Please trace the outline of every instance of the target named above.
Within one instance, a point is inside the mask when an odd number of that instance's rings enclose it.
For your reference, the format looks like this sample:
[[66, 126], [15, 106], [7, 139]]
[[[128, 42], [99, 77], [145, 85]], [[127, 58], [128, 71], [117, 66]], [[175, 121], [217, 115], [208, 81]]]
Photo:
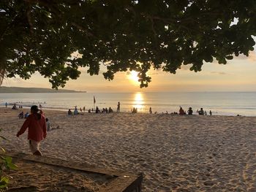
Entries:
[[42, 156], [41, 151], [39, 150], [39, 145], [42, 139], [46, 137], [46, 123], [44, 115], [38, 113], [39, 109], [37, 105], [31, 107], [31, 115], [26, 118], [23, 126], [21, 126], [20, 131], [17, 133], [17, 137], [23, 134], [26, 131], [26, 128], [29, 128], [28, 139], [29, 147], [33, 155]]

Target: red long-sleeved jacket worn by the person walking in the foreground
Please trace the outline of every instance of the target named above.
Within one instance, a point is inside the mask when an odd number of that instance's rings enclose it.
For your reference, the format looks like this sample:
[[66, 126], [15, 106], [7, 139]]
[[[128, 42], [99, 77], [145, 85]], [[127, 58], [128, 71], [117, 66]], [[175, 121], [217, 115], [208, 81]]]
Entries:
[[26, 131], [26, 128], [29, 127], [28, 139], [34, 140], [36, 142], [42, 141], [46, 137], [46, 123], [45, 117], [41, 115], [41, 118], [38, 120], [36, 114], [31, 114], [21, 126], [20, 131], [18, 131], [17, 136], [23, 134]]

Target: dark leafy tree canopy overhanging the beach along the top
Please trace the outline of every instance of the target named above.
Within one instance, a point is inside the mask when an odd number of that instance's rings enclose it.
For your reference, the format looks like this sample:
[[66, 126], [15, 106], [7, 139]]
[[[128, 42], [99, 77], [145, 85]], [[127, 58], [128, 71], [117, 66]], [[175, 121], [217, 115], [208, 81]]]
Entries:
[[39, 72], [58, 88], [80, 66], [93, 75], [105, 65], [106, 79], [135, 70], [146, 87], [151, 68], [198, 72], [214, 58], [248, 55], [255, 23], [255, 0], [1, 0], [0, 71]]

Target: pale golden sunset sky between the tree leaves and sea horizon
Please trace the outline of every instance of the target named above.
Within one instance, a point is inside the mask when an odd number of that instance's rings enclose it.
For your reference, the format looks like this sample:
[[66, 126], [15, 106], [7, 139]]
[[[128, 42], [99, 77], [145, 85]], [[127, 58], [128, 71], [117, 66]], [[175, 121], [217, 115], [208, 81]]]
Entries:
[[[77, 80], [69, 80], [64, 87], [75, 91], [99, 92], [192, 92], [192, 91], [256, 91], [256, 52], [249, 57], [240, 55], [226, 65], [203, 64], [201, 72], [192, 72], [182, 66], [176, 74], [151, 69], [148, 88], [140, 88], [139, 82], [129, 72], [116, 73], [114, 80], [105, 80], [102, 74], [90, 76], [86, 68]], [[100, 71], [102, 73], [102, 71]], [[36, 73], [29, 80], [20, 77], [4, 80], [2, 86], [26, 88], [51, 88], [47, 78]]]

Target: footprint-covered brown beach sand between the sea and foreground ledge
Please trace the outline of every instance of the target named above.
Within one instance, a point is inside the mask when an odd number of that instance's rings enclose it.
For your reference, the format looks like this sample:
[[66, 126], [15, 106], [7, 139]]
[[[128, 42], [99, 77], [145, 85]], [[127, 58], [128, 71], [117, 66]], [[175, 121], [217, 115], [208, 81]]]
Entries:
[[[23, 110], [26, 112], [27, 110]], [[44, 156], [143, 172], [143, 191], [256, 191], [256, 117], [45, 110]], [[18, 110], [0, 108], [6, 150], [30, 153]]]

